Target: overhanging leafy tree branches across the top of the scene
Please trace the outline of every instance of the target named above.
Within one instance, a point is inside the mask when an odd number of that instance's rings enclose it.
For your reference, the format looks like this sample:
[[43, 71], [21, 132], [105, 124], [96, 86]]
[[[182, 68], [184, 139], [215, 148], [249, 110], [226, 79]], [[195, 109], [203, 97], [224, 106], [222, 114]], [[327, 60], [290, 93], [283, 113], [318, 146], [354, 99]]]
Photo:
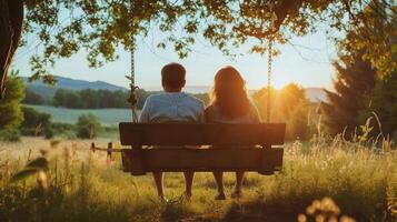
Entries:
[[[118, 46], [130, 49], [131, 36], [147, 37], [152, 24], [166, 33], [156, 42], [158, 47], [171, 47], [180, 58], [192, 51], [198, 37], [228, 56], [235, 56], [234, 49], [247, 42], [250, 52], [264, 53], [264, 42], [272, 36], [277, 42], [286, 43], [292, 36], [301, 37], [327, 27], [336, 42], [366, 49], [365, 57], [379, 74], [396, 68], [390, 56], [396, 51], [393, 41], [396, 6], [388, 1], [284, 0], [275, 1], [274, 6], [259, 0], [131, 2], [130, 6], [130, 1], [27, 1], [24, 38], [33, 33], [43, 46], [41, 53], [31, 58], [34, 71], [31, 79], [42, 77], [53, 82], [47, 65], [79, 50], [88, 52], [90, 67], [113, 61], [118, 58]], [[378, 23], [380, 28], [373, 29]], [[367, 31], [356, 32], [360, 29]], [[278, 32], [274, 33], [275, 30]], [[347, 42], [344, 33], [349, 33]]]

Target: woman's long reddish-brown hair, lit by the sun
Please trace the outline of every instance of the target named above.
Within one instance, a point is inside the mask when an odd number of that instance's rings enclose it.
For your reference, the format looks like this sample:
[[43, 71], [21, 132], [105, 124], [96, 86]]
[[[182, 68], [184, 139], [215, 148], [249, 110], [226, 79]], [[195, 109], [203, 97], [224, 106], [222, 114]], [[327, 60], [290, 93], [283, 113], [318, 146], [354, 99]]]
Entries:
[[215, 75], [210, 105], [216, 105], [222, 115], [229, 118], [238, 118], [249, 111], [246, 82], [234, 67], [225, 67]]

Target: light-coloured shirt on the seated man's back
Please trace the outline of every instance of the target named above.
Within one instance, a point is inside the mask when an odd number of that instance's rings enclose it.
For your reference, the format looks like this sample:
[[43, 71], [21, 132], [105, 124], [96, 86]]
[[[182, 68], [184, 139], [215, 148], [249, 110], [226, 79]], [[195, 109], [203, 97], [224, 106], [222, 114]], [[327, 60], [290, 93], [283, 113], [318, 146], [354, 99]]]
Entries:
[[204, 102], [185, 92], [162, 92], [150, 95], [139, 122], [204, 122]]

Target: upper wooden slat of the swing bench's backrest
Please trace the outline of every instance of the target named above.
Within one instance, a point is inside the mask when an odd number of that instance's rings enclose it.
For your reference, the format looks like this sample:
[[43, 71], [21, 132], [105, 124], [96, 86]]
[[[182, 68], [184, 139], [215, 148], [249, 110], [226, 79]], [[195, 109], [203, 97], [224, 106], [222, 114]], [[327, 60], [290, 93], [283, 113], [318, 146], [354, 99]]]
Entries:
[[284, 144], [285, 123], [120, 123], [122, 145]]

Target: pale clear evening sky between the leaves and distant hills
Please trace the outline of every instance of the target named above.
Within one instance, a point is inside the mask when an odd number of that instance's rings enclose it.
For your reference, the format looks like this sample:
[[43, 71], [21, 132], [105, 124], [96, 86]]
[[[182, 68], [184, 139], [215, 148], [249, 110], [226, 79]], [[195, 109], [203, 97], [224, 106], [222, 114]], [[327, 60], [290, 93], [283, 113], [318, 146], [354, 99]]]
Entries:
[[[224, 56], [217, 48], [210, 47], [205, 40], [197, 41], [193, 51], [186, 59], [179, 59], [171, 49], [158, 49], [156, 41], [160, 34], [149, 34], [138, 39], [135, 53], [136, 84], [140, 88], [160, 87], [160, 70], [169, 62], [179, 62], [187, 70], [187, 85], [208, 87], [212, 84], [214, 75], [225, 65], [236, 67], [247, 82], [249, 89], [260, 89], [267, 84], [267, 54], [251, 54], [247, 49], [237, 49], [242, 53], [235, 60]], [[336, 48], [326, 38], [324, 29], [301, 38], [292, 38], [290, 43], [275, 48], [280, 54], [274, 59], [271, 83], [282, 88], [295, 82], [301, 87], [333, 88]], [[30, 75], [29, 58], [37, 52], [38, 40], [28, 38], [27, 47], [17, 51], [11, 68], [19, 70], [21, 75]], [[40, 42], [39, 42], [40, 43]], [[171, 47], [170, 47], [171, 48]], [[130, 73], [130, 52], [117, 49], [119, 59], [106, 63], [99, 69], [88, 67], [86, 52], [79, 51], [68, 59], [60, 59], [50, 70], [52, 74], [88, 81], [106, 81], [112, 84], [128, 87], [125, 75]]]

